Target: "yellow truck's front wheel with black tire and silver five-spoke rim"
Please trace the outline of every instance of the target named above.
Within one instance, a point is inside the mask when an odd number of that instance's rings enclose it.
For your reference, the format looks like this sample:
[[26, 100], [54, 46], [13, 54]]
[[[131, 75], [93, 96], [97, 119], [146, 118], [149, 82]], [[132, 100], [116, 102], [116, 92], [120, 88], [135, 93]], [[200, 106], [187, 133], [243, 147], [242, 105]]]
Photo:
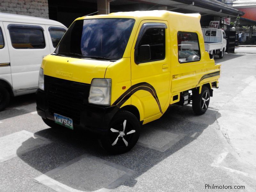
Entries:
[[139, 120], [129, 111], [121, 110], [113, 117], [108, 131], [101, 136], [99, 143], [109, 153], [121, 154], [131, 150], [139, 137]]

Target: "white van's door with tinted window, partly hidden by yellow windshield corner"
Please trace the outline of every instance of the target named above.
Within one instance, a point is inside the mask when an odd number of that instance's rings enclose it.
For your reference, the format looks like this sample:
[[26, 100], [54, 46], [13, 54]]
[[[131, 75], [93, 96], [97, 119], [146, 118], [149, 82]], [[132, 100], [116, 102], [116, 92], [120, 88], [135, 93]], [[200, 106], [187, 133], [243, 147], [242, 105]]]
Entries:
[[49, 39], [49, 45], [51, 53], [55, 51], [55, 48], [60, 42], [60, 39], [65, 34], [67, 29], [59, 26], [45, 25], [47, 36]]

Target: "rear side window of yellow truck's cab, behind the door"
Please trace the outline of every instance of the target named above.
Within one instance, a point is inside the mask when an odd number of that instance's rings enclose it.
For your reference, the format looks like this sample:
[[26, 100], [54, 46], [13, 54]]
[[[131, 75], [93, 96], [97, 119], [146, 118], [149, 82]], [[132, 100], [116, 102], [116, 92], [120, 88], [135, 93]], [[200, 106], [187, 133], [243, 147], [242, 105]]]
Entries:
[[178, 32], [179, 62], [199, 61], [201, 58], [198, 36], [192, 32]]

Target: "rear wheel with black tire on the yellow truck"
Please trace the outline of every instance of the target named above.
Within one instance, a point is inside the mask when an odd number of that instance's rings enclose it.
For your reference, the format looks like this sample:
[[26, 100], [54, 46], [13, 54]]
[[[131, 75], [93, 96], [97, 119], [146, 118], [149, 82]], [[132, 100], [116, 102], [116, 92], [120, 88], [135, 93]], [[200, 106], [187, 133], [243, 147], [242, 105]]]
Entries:
[[210, 91], [208, 87], [203, 86], [201, 93], [194, 90], [192, 93], [192, 109], [196, 115], [203, 115], [210, 103]]

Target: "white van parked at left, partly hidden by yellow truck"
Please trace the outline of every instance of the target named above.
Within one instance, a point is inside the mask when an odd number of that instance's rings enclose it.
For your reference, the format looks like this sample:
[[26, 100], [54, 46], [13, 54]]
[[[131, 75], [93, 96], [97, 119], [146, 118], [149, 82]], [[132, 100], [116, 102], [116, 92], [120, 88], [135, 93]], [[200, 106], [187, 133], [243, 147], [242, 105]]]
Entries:
[[66, 30], [58, 21], [0, 13], [0, 111], [10, 96], [36, 92], [42, 59]]

